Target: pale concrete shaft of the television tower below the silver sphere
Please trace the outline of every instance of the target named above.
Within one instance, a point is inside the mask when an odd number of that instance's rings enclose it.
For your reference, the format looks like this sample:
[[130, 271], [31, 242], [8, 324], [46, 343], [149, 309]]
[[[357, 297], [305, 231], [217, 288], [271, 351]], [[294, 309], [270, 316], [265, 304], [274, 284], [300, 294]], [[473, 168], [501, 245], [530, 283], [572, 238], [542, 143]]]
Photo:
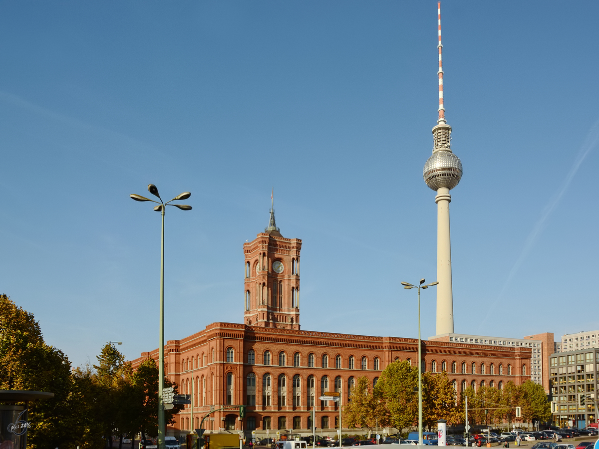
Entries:
[[437, 196], [437, 335], [453, 333], [453, 293], [451, 281], [451, 241], [447, 187], [439, 187]]

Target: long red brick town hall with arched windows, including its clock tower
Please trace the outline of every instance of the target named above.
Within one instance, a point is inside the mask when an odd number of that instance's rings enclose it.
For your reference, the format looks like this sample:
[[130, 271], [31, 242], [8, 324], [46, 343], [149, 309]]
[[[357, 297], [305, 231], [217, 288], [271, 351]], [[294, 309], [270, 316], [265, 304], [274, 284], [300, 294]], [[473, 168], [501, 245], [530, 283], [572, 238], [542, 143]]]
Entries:
[[[202, 416], [226, 405], [246, 405], [215, 412], [204, 422], [207, 430], [295, 429], [308, 433], [309, 415], [316, 427], [338, 427], [338, 408], [318, 398], [325, 391], [341, 392], [347, 403], [356, 378], [375, 384], [394, 360], [417, 363], [418, 340], [301, 330], [299, 326], [299, 252], [301, 240], [284, 238], [274, 223], [243, 245], [245, 256], [244, 324], [212, 323], [204, 330], [165, 345], [165, 373], [192, 395], [176, 418], [173, 431], [199, 427]], [[426, 371], [446, 371], [456, 391], [468, 385], [501, 388], [507, 381], [529, 378], [531, 350], [527, 347], [469, 345], [423, 341]], [[158, 350], [142, 353], [158, 360]], [[523, 374], [524, 373], [524, 374]]]

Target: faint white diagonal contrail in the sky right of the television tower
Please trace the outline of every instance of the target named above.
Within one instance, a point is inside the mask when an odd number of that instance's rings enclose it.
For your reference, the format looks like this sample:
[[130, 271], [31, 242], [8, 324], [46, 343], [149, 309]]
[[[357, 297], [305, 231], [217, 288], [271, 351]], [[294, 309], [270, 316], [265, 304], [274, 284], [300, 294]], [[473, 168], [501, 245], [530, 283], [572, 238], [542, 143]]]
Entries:
[[524, 248], [522, 248], [522, 252], [518, 257], [518, 260], [516, 260], [516, 262], [512, 266], [512, 269], [510, 270], [510, 273], [507, 275], [506, 281], [503, 284], [501, 292], [499, 293], [499, 295], [497, 295], [497, 299], [495, 299], [493, 307], [490, 307], [487, 311], [485, 319], [482, 320], [480, 327], [483, 326], [487, 318], [489, 318], [489, 315], [491, 314], [492, 310], [495, 309], [495, 305], [497, 305], [497, 302], [499, 302], [502, 298], [504, 292], [507, 289], [507, 286], [509, 286], [510, 282], [512, 281], [512, 278], [516, 275], [516, 272], [518, 272], [518, 270], [522, 266], [522, 263], [527, 258], [528, 254], [530, 253], [531, 249], [536, 243], [537, 238], [539, 238], [539, 235], [541, 233], [541, 230], [543, 230], [545, 222], [547, 221], [555, 207], [558, 205], [562, 196], [564, 196], [565, 191], [568, 190], [568, 187], [570, 186], [570, 183], [572, 182], [574, 175], [576, 175], [576, 172], [580, 168], [580, 165], [585, 160], [586, 156], [588, 156], [591, 150], [595, 148], [595, 146], [597, 146], [597, 142], [599, 142], [599, 120], [595, 122], [595, 125], [591, 126], [591, 129], [586, 135], [586, 139], [583, 142], [582, 147], [580, 147], [580, 151], [578, 152], [578, 155], [576, 156], [576, 159], [574, 160], [574, 163], [572, 164], [570, 171], [568, 171], [568, 174], [566, 175], [564, 181], [559, 187], [559, 190], [550, 199], [549, 203], [544, 208], [543, 214], [541, 214], [539, 221], [537, 221], [536, 225], [533, 227], [533, 230], [531, 230], [530, 234], [528, 235], [528, 238], [526, 239]]

